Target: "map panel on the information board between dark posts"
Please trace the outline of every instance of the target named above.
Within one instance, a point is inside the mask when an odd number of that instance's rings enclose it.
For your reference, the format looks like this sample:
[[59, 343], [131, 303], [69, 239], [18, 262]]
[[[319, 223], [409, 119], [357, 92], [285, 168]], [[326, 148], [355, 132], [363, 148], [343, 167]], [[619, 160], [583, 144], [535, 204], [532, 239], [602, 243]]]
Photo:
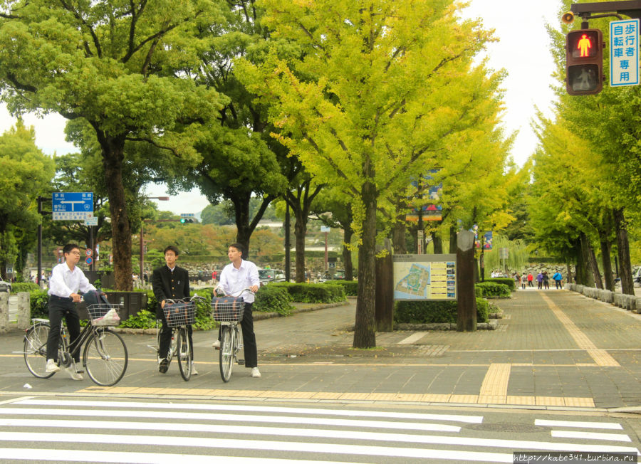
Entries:
[[456, 300], [457, 255], [394, 255], [395, 300]]

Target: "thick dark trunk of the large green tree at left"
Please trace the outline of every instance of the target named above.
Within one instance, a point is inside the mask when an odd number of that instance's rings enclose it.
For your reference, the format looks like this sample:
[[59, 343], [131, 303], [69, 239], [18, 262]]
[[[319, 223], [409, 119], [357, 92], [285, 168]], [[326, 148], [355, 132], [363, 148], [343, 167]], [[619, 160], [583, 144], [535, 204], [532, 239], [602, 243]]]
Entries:
[[96, 130], [96, 135], [102, 149], [105, 186], [109, 198], [115, 290], [130, 291], [133, 290], [131, 225], [123, 186], [125, 137], [109, 137], [100, 130]]

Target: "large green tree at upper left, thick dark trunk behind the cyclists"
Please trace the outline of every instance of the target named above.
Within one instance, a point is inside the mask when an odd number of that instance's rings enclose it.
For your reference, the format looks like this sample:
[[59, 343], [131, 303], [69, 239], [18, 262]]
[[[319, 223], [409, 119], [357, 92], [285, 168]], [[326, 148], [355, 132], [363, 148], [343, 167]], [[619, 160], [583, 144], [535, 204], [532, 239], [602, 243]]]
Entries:
[[[224, 100], [187, 70], [217, 1], [3, 1], [1, 99], [9, 110], [58, 112], [100, 144], [113, 232], [116, 288], [132, 287], [131, 226], [123, 188], [127, 143], [197, 159], [192, 140]], [[156, 160], [146, 160], [155, 163]]]

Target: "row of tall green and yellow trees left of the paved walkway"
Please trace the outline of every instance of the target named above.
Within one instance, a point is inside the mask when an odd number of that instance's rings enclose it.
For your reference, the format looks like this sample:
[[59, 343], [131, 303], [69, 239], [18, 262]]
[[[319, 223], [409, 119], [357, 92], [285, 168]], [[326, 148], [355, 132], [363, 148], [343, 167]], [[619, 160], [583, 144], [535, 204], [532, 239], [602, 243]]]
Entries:
[[[506, 226], [506, 203], [525, 179], [501, 130], [503, 74], [475, 60], [491, 36], [459, 8], [19, 0], [0, 14], [1, 97], [14, 113], [69, 120], [82, 152], [59, 169], [105, 200], [118, 289], [131, 288], [148, 181], [231, 202], [246, 245], [281, 197], [296, 221], [297, 260], [313, 214], [358, 244], [354, 345], [373, 347], [377, 243], [393, 229], [405, 235], [408, 199], [427, 190], [422, 174], [439, 169], [453, 233]], [[297, 261], [297, 279], [304, 268]]]

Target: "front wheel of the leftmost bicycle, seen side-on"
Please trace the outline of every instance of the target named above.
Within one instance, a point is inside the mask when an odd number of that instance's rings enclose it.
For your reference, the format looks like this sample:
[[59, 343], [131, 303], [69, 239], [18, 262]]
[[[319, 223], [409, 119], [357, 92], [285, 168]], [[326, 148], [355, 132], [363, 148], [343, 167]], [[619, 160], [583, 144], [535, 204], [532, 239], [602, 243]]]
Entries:
[[125, 342], [108, 329], [95, 329], [85, 344], [83, 364], [98, 385], [117, 384], [125, 375], [128, 359]]

